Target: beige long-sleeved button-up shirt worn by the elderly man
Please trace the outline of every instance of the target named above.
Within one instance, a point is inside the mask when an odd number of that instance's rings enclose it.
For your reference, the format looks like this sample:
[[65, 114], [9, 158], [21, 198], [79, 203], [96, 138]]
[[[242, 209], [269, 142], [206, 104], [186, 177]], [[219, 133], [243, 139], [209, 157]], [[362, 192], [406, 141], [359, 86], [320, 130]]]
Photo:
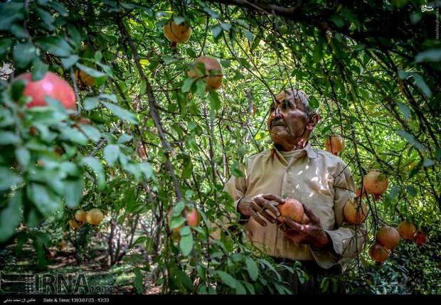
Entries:
[[[286, 161], [284, 155], [289, 162]], [[309, 245], [296, 244], [285, 237], [276, 224], [262, 227], [253, 218], [245, 225], [248, 240], [267, 255], [294, 260], [315, 260], [320, 267], [329, 269], [344, 258], [355, 257], [363, 249], [364, 226], [344, 221], [343, 208], [354, 200], [355, 184], [349, 168], [339, 157], [326, 151], [304, 149], [281, 152], [277, 149], [250, 156], [243, 168], [245, 176], [232, 176], [224, 191], [235, 200], [261, 193], [273, 193], [282, 198], [295, 198], [317, 215], [324, 230], [331, 237], [334, 252], [312, 250]], [[357, 238], [354, 238], [357, 232]]]

